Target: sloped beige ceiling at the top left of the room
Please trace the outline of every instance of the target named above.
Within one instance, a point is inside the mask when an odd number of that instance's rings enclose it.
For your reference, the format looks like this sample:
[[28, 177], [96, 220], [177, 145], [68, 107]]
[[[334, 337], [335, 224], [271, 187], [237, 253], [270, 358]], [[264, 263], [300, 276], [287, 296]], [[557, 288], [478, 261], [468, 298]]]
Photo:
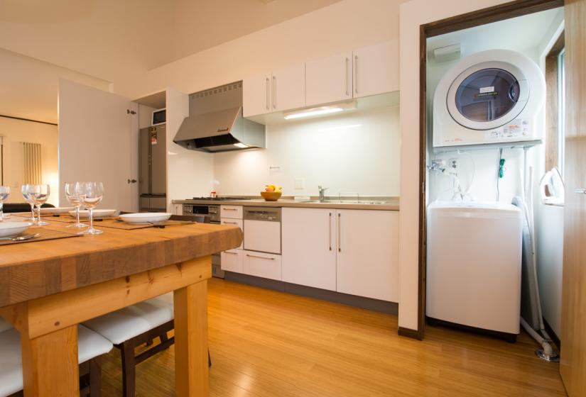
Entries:
[[337, 1], [1, 0], [0, 114], [55, 122], [59, 77], [107, 86]]

